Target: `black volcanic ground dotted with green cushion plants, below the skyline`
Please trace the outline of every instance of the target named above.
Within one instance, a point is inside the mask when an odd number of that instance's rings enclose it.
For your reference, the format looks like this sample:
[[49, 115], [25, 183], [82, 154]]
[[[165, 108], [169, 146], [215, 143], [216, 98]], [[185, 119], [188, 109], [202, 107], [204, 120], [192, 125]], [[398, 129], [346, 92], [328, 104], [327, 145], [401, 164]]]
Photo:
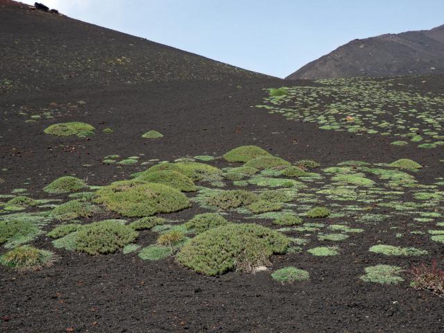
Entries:
[[[442, 265], [443, 76], [290, 82], [0, 6], [1, 332], [442, 332], [408, 271]], [[187, 228], [218, 223], [282, 246], [196, 273]], [[53, 257], [5, 266], [22, 244]]]

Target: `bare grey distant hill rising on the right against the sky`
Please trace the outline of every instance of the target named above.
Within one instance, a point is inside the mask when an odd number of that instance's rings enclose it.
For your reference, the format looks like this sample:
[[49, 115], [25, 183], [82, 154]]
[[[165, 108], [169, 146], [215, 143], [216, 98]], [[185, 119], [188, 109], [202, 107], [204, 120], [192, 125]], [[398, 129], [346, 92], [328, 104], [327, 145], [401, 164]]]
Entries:
[[444, 25], [424, 31], [352, 40], [287, 79], [444, 73]]

